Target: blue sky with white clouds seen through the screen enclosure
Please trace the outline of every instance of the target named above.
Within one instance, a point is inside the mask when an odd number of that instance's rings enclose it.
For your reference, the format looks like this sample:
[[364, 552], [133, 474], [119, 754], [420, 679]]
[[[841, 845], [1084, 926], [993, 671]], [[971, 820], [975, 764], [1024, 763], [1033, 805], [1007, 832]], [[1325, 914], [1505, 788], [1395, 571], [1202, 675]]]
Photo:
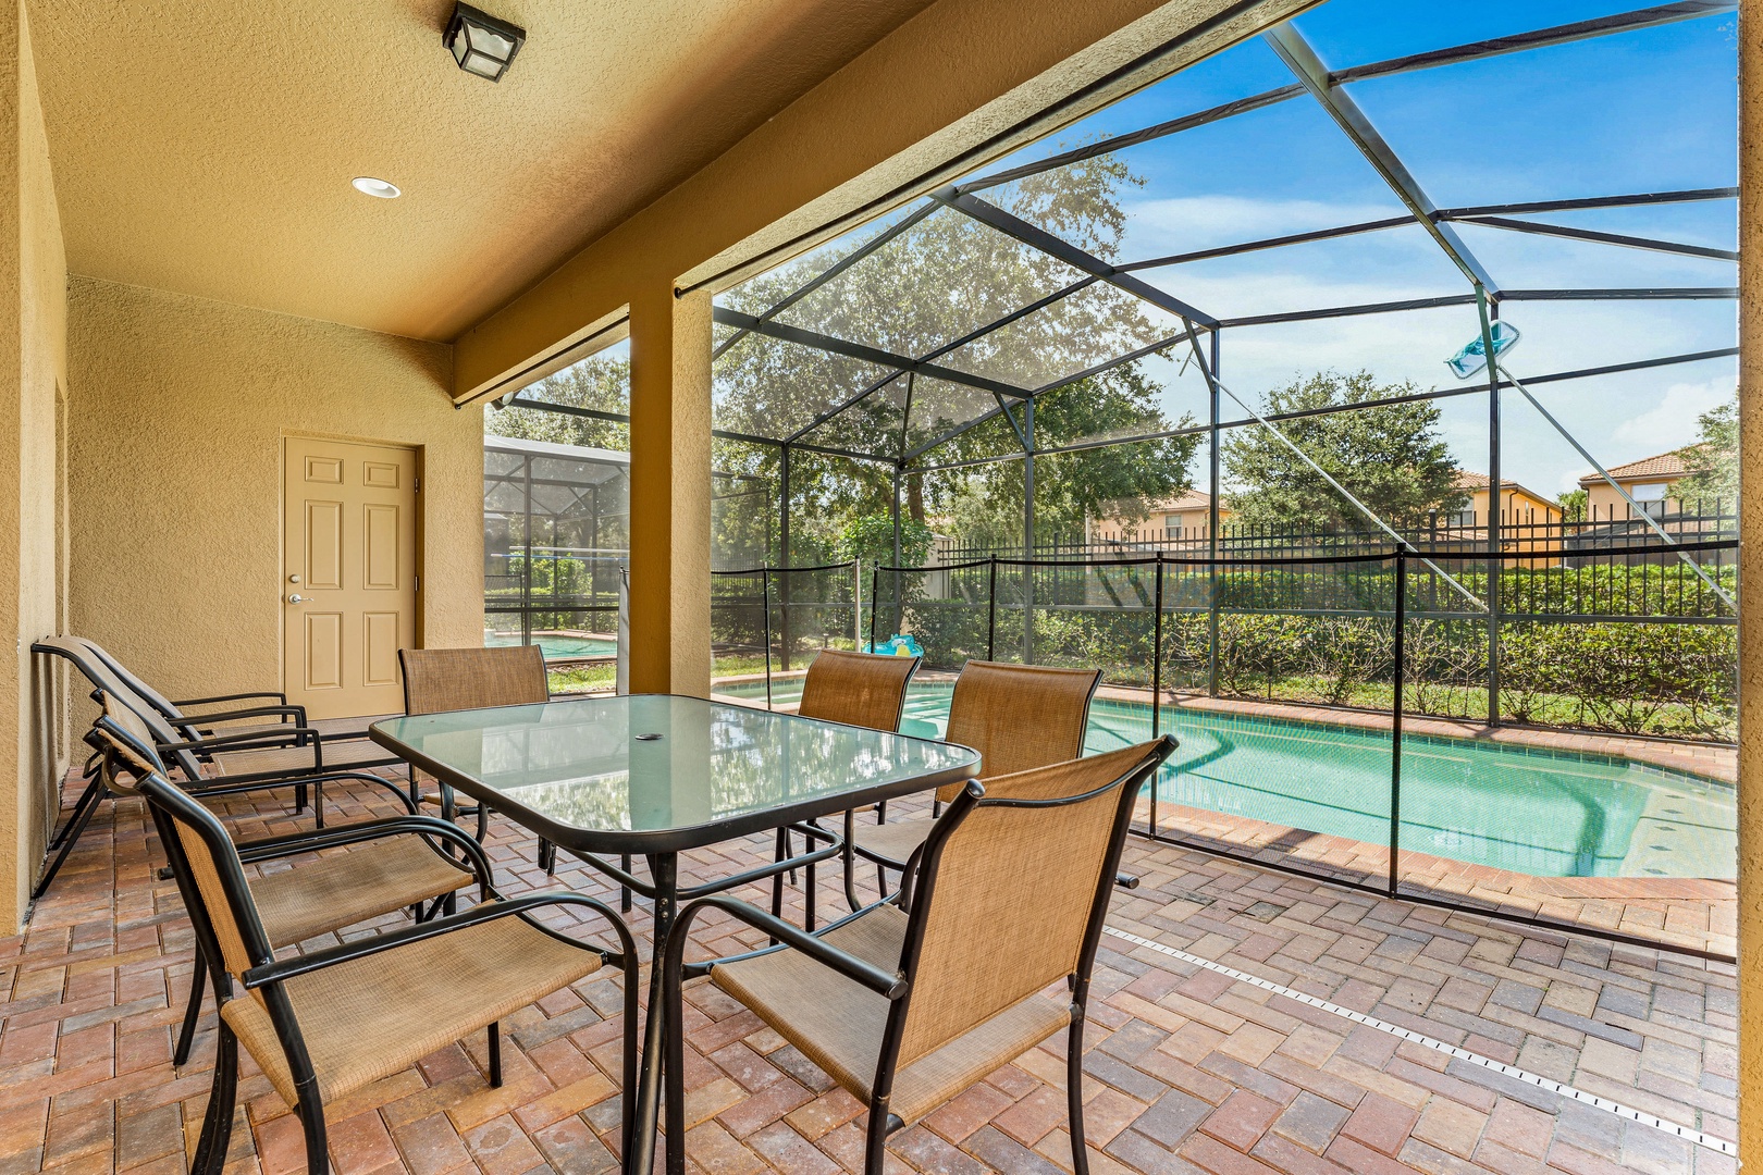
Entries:
[[[1329, 69], [1546, 28], [1640, 7], [1594, 0], [1331, 0], [1298, 18]], [[1238, 44], [1047, 139], [986, 174], [1220, 102], [1278, 88], [1291, 72], [1261, 39]], [[1737, 16], [1717, 14], [1567, 46], [1504, 55], [1347, 86], [1440, 208], [1737, 185]], [[1402, 215], [1354, 144], [1310, 97], [1120, 151], [1144, 180], [1125, 192], [1121, 261]], [[1735, 201], [1657, 204], [1534, 220], [1737, 248]], [[1737, 285], [1728, 261], [1458, 225], [1504, 289]], [[1234, 317], [1467, 292], [1417, 225], [1139, 277], [1215, 315]], [[1735, 301], [1509, 303], [1520, 379], [1606, 363], [1731, 347]], [[1370, 370], [1380, 382], [1460, 386], [1444, 359], [1479, 331], [1474, 307], [1227, 329], [1220, 379], [1259, 407], [1310, 372]], [[1153, 361], [1164, 410], [1204, 416], [1194, 368]], [[1730, 400], [1737, 361], [1708, 359], [1548, 382], [1537, 398], [1606, 465], [1691, 442], [1696, 418]], [[1488, 396], [1439, 402], [1467, 469], [1488, 467]], [[1555, 495], [1590, 472], [1518, 393], [1502, 395], [1502, 469]], [[1227, 407], [1227, 416], [1243, 412]], [[1202, 472], [1202, 470], [1195, 470]]]

